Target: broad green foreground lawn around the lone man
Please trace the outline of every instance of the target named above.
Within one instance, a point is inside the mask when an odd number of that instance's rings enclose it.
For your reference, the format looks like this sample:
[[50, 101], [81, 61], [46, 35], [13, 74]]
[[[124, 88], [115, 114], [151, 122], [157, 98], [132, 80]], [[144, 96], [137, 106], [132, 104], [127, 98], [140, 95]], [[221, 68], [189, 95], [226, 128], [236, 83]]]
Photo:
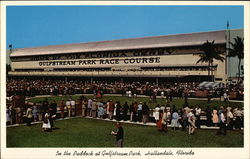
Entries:
[[[7, 147], [115, 147], [114, 122], [86, 118], [56, 121], [58, 129], [42, 132], [41, 124], [7, 128]], [[123, 124], [124, 147], [243, 147], [242, 131], [217, 136], [216, 130], [159, 132], [156, 127]]]

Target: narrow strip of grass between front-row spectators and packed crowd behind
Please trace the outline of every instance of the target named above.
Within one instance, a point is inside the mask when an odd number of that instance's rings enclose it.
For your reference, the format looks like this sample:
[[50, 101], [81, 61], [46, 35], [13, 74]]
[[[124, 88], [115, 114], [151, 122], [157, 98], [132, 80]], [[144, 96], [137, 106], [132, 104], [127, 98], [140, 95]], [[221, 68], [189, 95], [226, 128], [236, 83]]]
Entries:
[[[64, 99], [65, 101], [68, 99], [69, 96], [52, 96], [52, 97], [47, 97], [47, 100], [49, 102], [51, 102], [52, 100], [55, 100], [59, 103], [59, 101], [61, 101], [62, 99]], [[74, 100], [78, 99], [79, 96], [71, 96]], [[86, 96], [87, 98], [93, 98], [93, 96]], [[148, 97], [137, 97], [137, 98], [128, 98], [125, 96], [103, 96], [103, 98], [101, 100], [103, 101], [108, 101], [112, 99], [113, 101], [120, 101], [121, 104], [124, 104], [126, 101], [128, 102], [128, 104], [130, 105], [133, 101], [137, 101], [137, 102], [147, 102], [150, 108], [155, 108], [157, 104], [164, 104], [166, 105], [166, 101], [163, 99], [157, 99], [157, 103], [149, 103], [149, 98]], [[36, 97], [36, 98], [32, 98], [29, 101], [30, 102], [39, 102], [39, 101], [43, 101], [45, 100], [45, 97]], [[100, 100], [100, 99], [99, 99]], [[221, 105], [223, 106], [231, 106], [231, 107], [238, 107], [238, 108], [242, 108], [243, 107], [243, 103], [237, 103], [237, 102], [229, 102], [224, 103], [223, 101], [212, 101], [211, 103], [207, 103], [206, 100], [194, 100], [194, 99], [188, 99], [188, 103], [190, 106], [195, 106], [195, 105], [199, 105], [201, 107], [202, 110], [205, 110], [207, 105], [210, 105], [211, 108], [213, 107], [219, 107]], [[176, 105], [176, 108], [181, 108], [182, 105], [184, 104], [184, 99], [179, 99], [179, 98], [174, 98], [173, 101], [171, 102], [170, 105]]]

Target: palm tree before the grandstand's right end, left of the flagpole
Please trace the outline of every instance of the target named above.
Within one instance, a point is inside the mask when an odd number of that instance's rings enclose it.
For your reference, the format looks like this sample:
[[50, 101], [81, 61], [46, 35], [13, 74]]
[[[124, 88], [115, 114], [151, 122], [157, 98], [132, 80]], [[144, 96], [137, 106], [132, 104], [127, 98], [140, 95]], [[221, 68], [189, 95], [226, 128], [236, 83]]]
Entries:
[[[203, 63], [206, 62], [208, 63], [208, 76], [211, 75], [213, 76], [213, 69], [211, 70], [211, 66], [213, 66], [214, 59], [215, 60], [220, 60], [221, 62], [224, 61], [224, 56], [223, 52], [217, 49], [217, 47], [214, 44], [214, 40], [212, 42], [209, 42], [208, 40], [201, 46], [200, 48], [203, 53], [200, 53], [200, 59], [196, 62], [198, 63]], [[212, 78], [212, 81], [214, 81], [214, 78]]]

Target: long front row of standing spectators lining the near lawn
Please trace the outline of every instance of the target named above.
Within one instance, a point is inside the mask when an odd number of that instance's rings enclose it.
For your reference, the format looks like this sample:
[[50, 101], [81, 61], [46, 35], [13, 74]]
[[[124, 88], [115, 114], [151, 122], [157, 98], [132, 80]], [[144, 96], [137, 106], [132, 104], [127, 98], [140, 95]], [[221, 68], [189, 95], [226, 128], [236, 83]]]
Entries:
[[[100, 93], [100, 92], [99, 92]], [[98, 93], [95, 97], [98, 97]], [[7, 125], [27, 123], [31, 125], [32, 121], [42, 121], [43, 130], [51, 131], [54, 126], [54, 120], [57, 118], [66, 118], [72, 116], [82, 116], [100, 119], [109, 119], [116, 121], [130, 122], [156, 122], [159, 131], [167, 131], [168, 126], [174, 130], [188, 130], [189, 134], [194, 134], [196, 128], [202, 124], [206, 126], [219, 126], [218, 134], [226, 134], [226, 130], [241, 129], [243, 127], [243, 110], [238, 108], [221, 106], [210, 108], [209, 106], [202, 110], [199, 105], [189, 106], [185, 104], [177, 109], [175, 105], [157, 105], [154, 109], [149, 109], [146, 102], [137, 102], [134, 100], [131, 104], [120, 101], [103, 101], [99, 99], [86, 98], [80, 96], [74, 100], [69, 97], [67, 100], [48, 102], [47, 99], [38, 103], [25, 104], [25, 107], [13, 107], [10, 105], [6, 109]], [[78, 109], [80, 108], [80, 109]], [[201, 119], [201, 116], [205, 116]]]

